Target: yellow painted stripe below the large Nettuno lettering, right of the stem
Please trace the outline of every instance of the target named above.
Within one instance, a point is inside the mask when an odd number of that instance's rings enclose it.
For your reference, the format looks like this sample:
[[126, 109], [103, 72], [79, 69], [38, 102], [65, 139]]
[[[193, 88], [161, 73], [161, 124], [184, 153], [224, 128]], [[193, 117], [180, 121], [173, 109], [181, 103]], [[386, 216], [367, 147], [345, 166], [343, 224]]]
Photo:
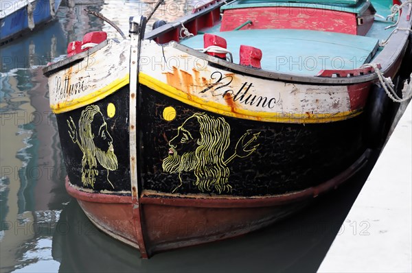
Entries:
[[332, 121], [342, 121], [350, 119], [361, 114], [361, 110], [339, 112], [334, 114], [295, 114], [295, 113], [277, 113], [277, 112], [258, 112], [244, 109], [236, 109], [236, 112], [232, 112], [231, 107], [218, 104], [216, 102], [209, 102], [199, 97], [191, 96], [169, 84], [165, 84], [155, 78], [150, 77], [144, 73], [139, 73], [139, 82], [152, 88], [153, 90], [162, 93], [173, 99], [177, 99], [180, 102], [189, 104], [196, 108], [201, 108], [209, 112], [215, 112], [219, 115], [225, 115], [228, 117], [237, 117], [241, 119], [251, 119], [256, 121], [268, 121], [268, 122], [282, 122], [282, 123], [326, 123]]

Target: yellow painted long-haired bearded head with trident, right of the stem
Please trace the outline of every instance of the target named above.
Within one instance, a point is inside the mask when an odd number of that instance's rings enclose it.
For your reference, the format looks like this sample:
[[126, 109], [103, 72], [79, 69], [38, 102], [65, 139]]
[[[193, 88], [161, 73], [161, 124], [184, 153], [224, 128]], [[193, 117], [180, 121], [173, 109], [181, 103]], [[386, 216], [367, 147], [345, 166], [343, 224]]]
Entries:
[[218, 193], [230, 192], [232, 187], [227, 164], [236, 157], [245, 158], [255, 152], [259, 146], [255, 144], [259, 134], [244, 133], [236, 143], [234, 154], [225, 159], [230, 144], [230, 126], [225, 119], [205, 113], [196, 113], [186, 119], [169, 141], [168, 157], [163, 159], [163, 171], [179, 174], [180, 183], [172, 193], [182, 186], [182, 171], [194, 172], [194, 185], [200, 191], [216, 189]]

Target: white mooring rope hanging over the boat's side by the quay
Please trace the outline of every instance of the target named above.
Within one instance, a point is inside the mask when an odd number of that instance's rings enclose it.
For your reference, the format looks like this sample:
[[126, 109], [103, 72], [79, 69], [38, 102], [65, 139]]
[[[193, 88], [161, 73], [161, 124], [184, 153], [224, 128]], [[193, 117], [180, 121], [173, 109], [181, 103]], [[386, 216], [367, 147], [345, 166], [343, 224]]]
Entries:
[[402, 98], [400, 98], [396, 94], [396, 90], [393, 89], [395, 86], [391, 80], [390, 77], [385, 78], [383, 75], [382, 71], [378, 68], [378, 64], [375, 63], [370, 63], [370, 64], [363, 64], [363, 67], [373, 67], [375, 69], [376, 75], [378, 75], [378, 79], [380, 82], [380, 85], [384, 88], [385, 92], [387, 93], [388, 97], [392, 99], [393, 102], [406, 102], [407, 100], [412, 98], [412, 73], [411, 73], [411, 79], [409, 79], [409, 84], [405, 82], [404, 88], [402, 89]]

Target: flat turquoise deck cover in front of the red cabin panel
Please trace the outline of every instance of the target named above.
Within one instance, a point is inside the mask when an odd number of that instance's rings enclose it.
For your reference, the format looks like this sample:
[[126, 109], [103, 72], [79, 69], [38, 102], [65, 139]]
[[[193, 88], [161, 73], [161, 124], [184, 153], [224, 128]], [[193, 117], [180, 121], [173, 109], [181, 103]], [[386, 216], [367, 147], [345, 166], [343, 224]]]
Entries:
[[[378, 39], [300, 29], [247, 29], [214, 32], [227, 40], [233, 62], [239, 63], [240, 45], [262, 50], [262, 69], [317, 75], [322, 69], [356, 69], [369, 62]], [[203, 35], [182, 41], [194, 49], [203, 48]]]

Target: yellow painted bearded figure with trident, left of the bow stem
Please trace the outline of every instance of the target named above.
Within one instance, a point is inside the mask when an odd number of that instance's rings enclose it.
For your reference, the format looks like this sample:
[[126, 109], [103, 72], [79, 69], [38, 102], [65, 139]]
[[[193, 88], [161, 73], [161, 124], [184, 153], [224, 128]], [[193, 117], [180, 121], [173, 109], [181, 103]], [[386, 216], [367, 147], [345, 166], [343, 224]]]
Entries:
[[[109, 104], [113, 107], [113, 104]], [[109, 108], [109, 107], [108, 107]], [[84, 186], [94, 187], [96, 176], [98, 176], [98, 163], [107, 170], [106, 179], [111, 187], [114, 186], [108, 179], [109, 171], [117, 169], [117, 156], [113, 149], [113, 139], [108, 133], [107, 123], [104, 120], [99, 106], [89, 105], [82, 110], [78, 121], [79, 130], [73, 119], [67, 120], [69, 135], [73, 143], [77, 143], [82, 156], [82, 183]], [[80, 138], [80, 141], [78, 139]]]

